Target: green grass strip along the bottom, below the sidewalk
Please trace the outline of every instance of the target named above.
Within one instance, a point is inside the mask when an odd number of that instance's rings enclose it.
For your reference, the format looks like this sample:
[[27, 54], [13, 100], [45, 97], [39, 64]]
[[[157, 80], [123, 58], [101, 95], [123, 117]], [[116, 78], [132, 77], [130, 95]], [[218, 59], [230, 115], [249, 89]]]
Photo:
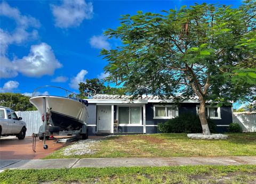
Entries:
[[256, 166], [164, 166], [5, 170], [1, 183], [255, 183]]

